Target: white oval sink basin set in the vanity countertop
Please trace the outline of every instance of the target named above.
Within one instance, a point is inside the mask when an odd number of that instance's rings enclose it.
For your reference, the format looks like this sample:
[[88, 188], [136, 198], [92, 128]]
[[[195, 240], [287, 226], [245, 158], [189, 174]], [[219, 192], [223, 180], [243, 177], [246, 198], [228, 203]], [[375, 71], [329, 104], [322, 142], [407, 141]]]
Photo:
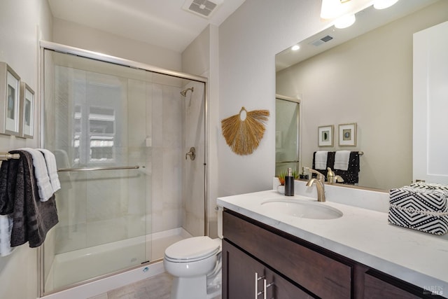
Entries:
[[309, 219], [335, 219], [342, 217], [342, 211], [328, 207], [321, 202], [302, 200], [270, 199], [261, 203], [263, 209], [275, 214]]

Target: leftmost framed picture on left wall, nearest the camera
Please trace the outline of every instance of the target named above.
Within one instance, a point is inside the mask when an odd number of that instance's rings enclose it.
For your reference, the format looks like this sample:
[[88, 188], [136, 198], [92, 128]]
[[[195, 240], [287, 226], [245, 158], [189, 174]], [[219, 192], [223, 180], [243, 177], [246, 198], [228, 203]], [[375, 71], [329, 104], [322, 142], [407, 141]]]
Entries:
[[0, 134], [20, 136], [20, 76], [0, 62]]

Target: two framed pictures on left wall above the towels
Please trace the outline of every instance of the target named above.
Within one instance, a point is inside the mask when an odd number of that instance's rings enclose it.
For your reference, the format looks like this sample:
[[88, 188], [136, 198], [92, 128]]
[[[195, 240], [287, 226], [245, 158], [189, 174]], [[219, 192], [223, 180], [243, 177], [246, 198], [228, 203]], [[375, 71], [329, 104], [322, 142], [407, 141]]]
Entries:
[[0, 134], [33, 138], [34, 91], [0, 62]]

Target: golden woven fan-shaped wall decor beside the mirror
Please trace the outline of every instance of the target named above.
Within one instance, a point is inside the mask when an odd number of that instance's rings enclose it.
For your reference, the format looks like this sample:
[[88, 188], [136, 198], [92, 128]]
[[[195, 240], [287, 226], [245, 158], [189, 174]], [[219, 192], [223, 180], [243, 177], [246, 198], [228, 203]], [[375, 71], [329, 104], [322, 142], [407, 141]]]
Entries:
[[[245, 116], [245, 117], [244, 117]], [[225, 142], [238, 155], [250, 155], [258, 148], [265, 134], [268, 110], [247, 111], [241, 108], [238, 114], [221, 120]]]

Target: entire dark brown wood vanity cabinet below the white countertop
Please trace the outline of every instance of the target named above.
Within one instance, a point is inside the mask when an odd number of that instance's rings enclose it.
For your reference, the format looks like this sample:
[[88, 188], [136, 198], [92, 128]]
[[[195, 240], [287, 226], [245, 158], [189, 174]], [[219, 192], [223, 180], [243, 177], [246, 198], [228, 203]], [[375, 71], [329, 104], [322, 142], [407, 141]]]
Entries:
[[223, 235], [223, 299], [443, 298], [235, 211]]

